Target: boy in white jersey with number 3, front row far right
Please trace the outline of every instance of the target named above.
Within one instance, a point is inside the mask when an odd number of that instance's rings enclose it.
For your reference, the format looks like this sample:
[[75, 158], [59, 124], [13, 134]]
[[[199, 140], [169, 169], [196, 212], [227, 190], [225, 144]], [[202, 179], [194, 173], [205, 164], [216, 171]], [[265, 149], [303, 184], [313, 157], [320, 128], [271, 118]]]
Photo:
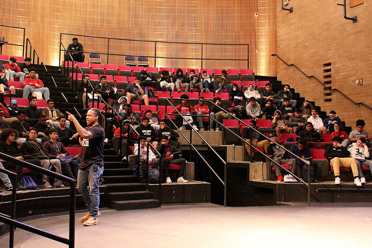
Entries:
[[363, 175], [361, 165], [366, 165], [369, 167], [372, 173], [372, 161], [366, 158], [369, 157], [368, 147], [366, 145], [365, 138], [359, 138], [356, 143], [349, 145], [347, 150], [350, 152], [350, 157], [355, 158], [356, 165], [358, 167], [358, 173], [360, 177], [360, 183], [365, 184], [366, 178]]

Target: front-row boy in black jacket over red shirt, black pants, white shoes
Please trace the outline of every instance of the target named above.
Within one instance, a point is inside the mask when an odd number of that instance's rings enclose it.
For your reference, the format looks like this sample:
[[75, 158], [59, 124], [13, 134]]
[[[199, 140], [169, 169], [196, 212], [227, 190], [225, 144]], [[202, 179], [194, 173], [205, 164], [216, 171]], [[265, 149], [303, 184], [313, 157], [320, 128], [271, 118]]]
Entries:
[[[161, 136], [161, 144], [157, 147], [157, 151], [160, 153], [160, 161], [163, 164], [166, 176], [166, 182], [172, 183], [169, 177], [169, 165], [170, 164], [179, 164], [180, 171], [177, 178], [177, 183], [187, 183], [188, 181], [183, 179], [186, 169], [186, 160], [185, 158], [174, 158], [182, 155], [182, 151], [168, 144], [168, 137]], [[160, 166], [161, 166], [160, 164]], [[159, 167], [160, 167], [159, 166]]]

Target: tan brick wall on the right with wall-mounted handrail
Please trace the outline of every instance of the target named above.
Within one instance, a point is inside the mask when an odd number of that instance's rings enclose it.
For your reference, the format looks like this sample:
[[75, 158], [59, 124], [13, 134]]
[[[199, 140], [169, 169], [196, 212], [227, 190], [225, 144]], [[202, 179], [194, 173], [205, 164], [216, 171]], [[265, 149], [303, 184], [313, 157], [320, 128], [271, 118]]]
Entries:
[[[293, 7], [293, 13], [289, 13], [276, 1], [278, 55], [328, 87], [338, 88], [355, 102], [372, 106], [372, 3], [364, 1], [350, 8], [346, 1], [346, 14], [357, 16], [356, 23], [344, 19], [343, 7], [337, 3], [342, 1], [290, 0], [285, 6]], [[355, 83], [360, 79], [362, 86]], [[364, 119], [366, 129], [372, 132], [372, 110], [352, 104], [337, 92], [328, 96], [330, 91], [321, 84], [279, 59], [278, 80], [290, 84], [306, 99], [315, 100], [327, 113], [335, 110], [353, 128], [357, 119]]]

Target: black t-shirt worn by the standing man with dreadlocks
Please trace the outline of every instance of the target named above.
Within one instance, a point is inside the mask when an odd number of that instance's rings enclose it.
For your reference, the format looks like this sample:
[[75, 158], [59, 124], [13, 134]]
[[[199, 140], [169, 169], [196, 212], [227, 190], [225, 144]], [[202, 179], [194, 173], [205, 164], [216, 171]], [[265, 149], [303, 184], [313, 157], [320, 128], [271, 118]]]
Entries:
[[83, 139], [81, 145], [81, 163], [80, 169], [86, 169], [92, 164], [103, 166], [103, 141], [105, 140], [105, 129], [97, 124], [90, 128], [85, 128], [93, 134], [92, 139]]

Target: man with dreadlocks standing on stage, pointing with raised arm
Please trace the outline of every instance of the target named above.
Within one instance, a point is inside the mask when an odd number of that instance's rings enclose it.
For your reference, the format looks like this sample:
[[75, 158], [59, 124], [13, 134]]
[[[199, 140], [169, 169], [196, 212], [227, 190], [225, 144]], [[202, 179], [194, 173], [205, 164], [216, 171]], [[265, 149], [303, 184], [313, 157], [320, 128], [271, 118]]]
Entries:
[[[86, 116], [87, 127], [84, 129], [75, 116], [68, 114], [68, 120], [74, 123], [80, 135], [81, 162], [77, 175], [77, 188], [90, 210], [80, 218], [84, 226], [98, 223], [99, 216], [99, 178], [103, 173], [103, 141], [105, 139], [105, 116], [99, 109], [89, 109]], [[87, 189], [89, 186], [90, 191]]]

